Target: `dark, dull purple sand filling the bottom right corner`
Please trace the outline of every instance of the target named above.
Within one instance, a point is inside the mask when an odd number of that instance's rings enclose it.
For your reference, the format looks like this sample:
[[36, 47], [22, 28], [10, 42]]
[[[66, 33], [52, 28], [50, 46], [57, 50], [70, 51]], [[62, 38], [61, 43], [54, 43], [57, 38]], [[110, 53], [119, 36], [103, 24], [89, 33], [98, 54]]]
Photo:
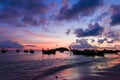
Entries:
[[120, 65], [98, 72], [99, 76], [86, 76], [78, 80], [120, 80]]

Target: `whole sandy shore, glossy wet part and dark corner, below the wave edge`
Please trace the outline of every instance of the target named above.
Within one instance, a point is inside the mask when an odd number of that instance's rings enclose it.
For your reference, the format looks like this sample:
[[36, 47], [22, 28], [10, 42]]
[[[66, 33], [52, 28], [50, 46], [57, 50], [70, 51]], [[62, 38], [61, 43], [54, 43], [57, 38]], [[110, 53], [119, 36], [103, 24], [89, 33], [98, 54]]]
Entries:
[[61, 70], [38, 80], [120, 80], [120, 58], [104, 59]]

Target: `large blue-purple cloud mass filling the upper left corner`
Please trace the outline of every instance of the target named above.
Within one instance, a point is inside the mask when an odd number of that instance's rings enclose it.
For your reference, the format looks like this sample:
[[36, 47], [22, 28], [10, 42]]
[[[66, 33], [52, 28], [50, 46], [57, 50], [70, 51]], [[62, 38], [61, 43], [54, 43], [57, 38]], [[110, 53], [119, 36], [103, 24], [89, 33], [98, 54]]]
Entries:
[[[0, 0], [0, 23], [12, 26], [37, 26], [44, 24], [49, 11], [44, 0]], [[44, 21], [45, 22], [45, 21]]]

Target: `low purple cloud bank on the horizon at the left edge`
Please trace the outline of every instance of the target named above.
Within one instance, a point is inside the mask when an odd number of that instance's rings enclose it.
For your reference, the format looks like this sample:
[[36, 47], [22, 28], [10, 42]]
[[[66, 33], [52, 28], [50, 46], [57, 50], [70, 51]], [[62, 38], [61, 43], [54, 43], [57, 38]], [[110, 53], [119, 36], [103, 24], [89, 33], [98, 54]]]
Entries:
[[23, 48], [23, 46], [18, 42], [6, 40], [6, 41], [0, 41], [0, 48]]

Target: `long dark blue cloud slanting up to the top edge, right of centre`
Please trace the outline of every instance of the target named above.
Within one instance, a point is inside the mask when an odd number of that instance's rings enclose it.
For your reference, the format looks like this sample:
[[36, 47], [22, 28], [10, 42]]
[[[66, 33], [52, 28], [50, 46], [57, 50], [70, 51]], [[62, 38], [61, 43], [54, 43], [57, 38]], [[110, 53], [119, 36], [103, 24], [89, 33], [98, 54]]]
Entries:
[[63, 6], [57, 16], [58, 20], [74, 19], [79, 16], [88, 16], [103, 4], [103, 0], [79, 0], [71, 8]]

